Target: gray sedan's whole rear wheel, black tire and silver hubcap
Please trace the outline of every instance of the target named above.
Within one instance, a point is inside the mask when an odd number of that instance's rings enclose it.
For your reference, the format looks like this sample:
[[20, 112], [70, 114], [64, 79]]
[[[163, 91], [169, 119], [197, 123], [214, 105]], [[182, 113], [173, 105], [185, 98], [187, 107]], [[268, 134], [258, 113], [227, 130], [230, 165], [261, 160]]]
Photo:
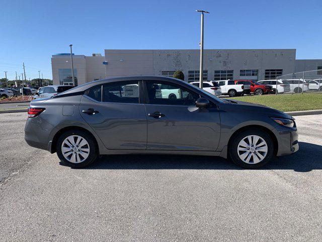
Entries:
[[73, 168], [87, 166], [97, 158], [97, 147], [92, 136], [79, 130], [63, 133], [57, 141], [58, 158]]

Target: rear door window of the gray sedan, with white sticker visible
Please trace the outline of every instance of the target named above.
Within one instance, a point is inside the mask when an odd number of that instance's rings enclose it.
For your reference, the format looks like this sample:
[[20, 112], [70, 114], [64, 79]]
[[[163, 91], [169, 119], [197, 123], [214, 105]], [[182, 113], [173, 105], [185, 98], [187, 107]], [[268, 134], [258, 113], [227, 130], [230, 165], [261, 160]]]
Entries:
[[138, 81], [119, 82], [104, 85], [103, 102], [139, 103]]

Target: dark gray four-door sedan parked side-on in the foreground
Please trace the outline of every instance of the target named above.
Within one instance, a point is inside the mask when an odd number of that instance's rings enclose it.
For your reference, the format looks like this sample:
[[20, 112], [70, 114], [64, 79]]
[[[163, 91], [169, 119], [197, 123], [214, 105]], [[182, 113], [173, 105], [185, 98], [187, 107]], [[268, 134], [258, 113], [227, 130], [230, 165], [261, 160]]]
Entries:
[[99, 154], [221, 156], [258, 168], [298, 150], [294, 118], [174, 78], [110, 78], [30, 103], [25, 140], [71, 167]]

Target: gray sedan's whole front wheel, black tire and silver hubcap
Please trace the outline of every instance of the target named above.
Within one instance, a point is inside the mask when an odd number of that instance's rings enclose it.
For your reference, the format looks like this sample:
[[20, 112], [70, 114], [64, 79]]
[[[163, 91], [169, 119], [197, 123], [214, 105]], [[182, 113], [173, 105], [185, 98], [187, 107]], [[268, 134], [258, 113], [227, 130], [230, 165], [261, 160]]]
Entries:
[[259, 129], [237, 134], [229, 147], [229, 157], [244, 168], [254, 169], [266, 165], [274, 155], [272, 138]]

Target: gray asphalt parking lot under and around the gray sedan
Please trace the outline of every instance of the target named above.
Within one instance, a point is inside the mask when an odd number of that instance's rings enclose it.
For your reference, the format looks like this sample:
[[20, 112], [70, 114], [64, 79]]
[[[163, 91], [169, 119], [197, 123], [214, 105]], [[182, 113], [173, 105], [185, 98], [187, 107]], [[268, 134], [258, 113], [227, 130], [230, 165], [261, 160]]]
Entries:
[[24, 141], [0, 114], [1, 241], [321, 241], [322, 115], [259, 170], [202, 156], [103, 156], [86, 169]]

